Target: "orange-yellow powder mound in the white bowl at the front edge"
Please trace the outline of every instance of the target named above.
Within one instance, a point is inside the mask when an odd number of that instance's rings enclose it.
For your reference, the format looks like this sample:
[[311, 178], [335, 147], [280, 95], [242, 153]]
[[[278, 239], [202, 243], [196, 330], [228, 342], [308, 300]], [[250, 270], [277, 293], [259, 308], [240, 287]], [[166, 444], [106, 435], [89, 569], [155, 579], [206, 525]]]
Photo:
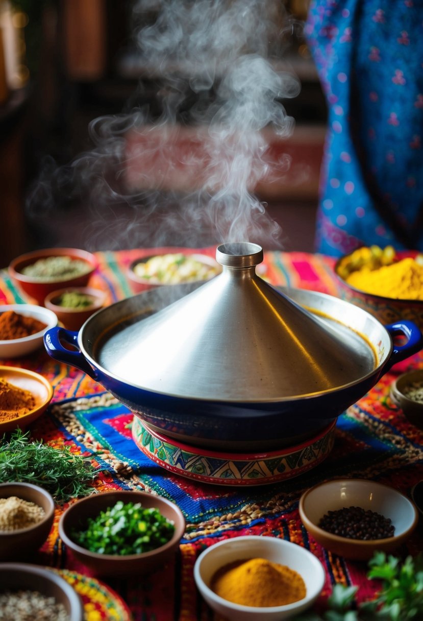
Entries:
[[254, 607], [292, 604], [306, 595], [300, 574], [265, 558], [234, 561], [223, 566], [214, 574], [210, 588], [229, 602]]

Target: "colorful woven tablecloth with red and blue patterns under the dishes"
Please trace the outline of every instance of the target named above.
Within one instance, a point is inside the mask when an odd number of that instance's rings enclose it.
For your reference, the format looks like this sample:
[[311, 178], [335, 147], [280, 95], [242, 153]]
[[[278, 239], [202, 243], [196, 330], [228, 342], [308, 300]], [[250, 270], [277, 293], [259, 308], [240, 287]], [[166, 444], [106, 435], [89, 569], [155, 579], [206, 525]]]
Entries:
[[[164, 251], [169, 249], [162, 249]], [[155, 252], [159, 252], [158, 249]], [[198, 251], [197, 251], [198, 252]], [[214, 249], [207, 251], [214, 254]], [[108, 292], [109, 302], [132, 294], [125, 276], [128, 264], [151, 250], [97, 253], [99, 269], [90, 284]], [[274, 284], [337, 294], [332, 260], [305, 253], [267, 252], [260, 270]], [[0, 302], [27, 302], [3, 272]], [[380, 382], [337, 420], [334, 448], [326, 460], [305, 474], [280, 483], [253, 487], [211, 486], [183, 478], [149, 460], [132, 440], [133, 415], [104, 388], [80, 371], [51, 360], [39, 351], [19, 360], [2, 360], [3, 365], [22, 366], [42, 373], [54, 388], [47, 412], [30, 428], [32, 435], [54, 446], [92, 455], [101, 469], [96, 486], [106, 489], [140, 489], [160, 494], [179, 505], [187, 528], [179, 553], [162, 569], [147, 576], [107, 579], [110, 597], [122, 598], [122, 611], [110, 619], [125, 619], [130, 610], [133, 621], [210, 621], [212, 612], [195, 589], [193, 566], [200, 551], [223, 538], [238, 535], [270, 535], [298, 543], [311, 550], [326, 569], [326, 584], [318, 607], [324, 604], [334, 582], [358, 586], [357, 599], [372, 597], [376, 586], [368, 581], [367, 564], [346, 561], [314, 542], [301, 524], [298, 500], [301, 493], [325, 479], [358, 477], [375, 479], [409, 494], [414, 483], [423, 479], [423, 434], [407, 422], [403, 412], [389, 397], [396, 374], [423, 366], [421, 355], [409, 358], [386, 373]], [[86, 577], [89, 570], [77, 563], [61, 545], [58, 519], [66, 508], [56, 508], [55, 524], [34, 562]], [[416, 554], [422, 549], [421, 528], [412, 534], [399, 554]], [[92, 599], [99, 587], [89, 587]], [[88, 592], [88, 591], [87, 591]], [[101, 596], [104, 598], [104, 594]], [[85, 602], [84, 602], [85, 603]], [[110, 604], [112, 606], [112, 604]], [[86, 606], [89, 621], [107, 618]]]

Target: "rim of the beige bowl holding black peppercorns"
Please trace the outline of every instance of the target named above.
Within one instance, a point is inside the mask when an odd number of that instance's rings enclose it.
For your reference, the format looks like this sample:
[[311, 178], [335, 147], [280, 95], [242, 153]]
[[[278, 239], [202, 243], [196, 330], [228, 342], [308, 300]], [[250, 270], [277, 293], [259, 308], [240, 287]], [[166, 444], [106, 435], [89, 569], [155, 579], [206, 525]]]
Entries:
[[[409, 502], [412, 511], [414, 512], [414, 517], [412, 519], [412, 523], [411, 525], [409, 525], [409, 527], [404, 530], [401, 533], [398, 533], [398, 535], [393, 535], [393, 537], [385, 537], [383, 539], [367, 539], [367, 540], [363, 540], [363, 539], [352, 539], [349, 537], [340, 537], [340, 535], [334, 535], [333, 533], [329, 533], [327, 530], [324, 530], [323, 528], [320, 528], [315, 522], [312, 522], [309, 517], [306, 515], [305, 510], [304, 510], [304, 502], [307, 496], [309, 496], [309, 494], [311, 494], [311, 492], [315, 491], [316, 489], [318, 489], [319, 487], [321, 487], [323, 489], [325, 484], [329, 484], [329, 483], [334, 483], [336, 481], [345, 481], [346, 483], [349, 482], [362, 482], [362, 483], [371, 483], [374, 486], [382, 489], [389, 489], [391, 492], [394, 492], [395, 494], [398, 494], [398, 496], [403, 496], [404, 499], [406, 499], [406, 501]], [[368, 547], [369, 545], [375, 545], [375, 543], [378, 543], [379, 545], [386, 545], [387, 543], [392, 543], [395, 542], [396, 540], [398, 540], [398, 538], [403, 538], [405, 536], [407, 536], [409, 533], [411, 533], [414, 528], [416, 528], [417, 526], [417, 522], [419, 520], [419, 512], [418, 509], [416, 507], [416, 504], [414, 503], [414, 501], [412, 501], [411, 499], [407, 498], [407, 496], [405, 494], [403, 494], [402, 492], [399, 492], [398, 489], [395, 489], [394, 487], [390, 487], [389, 485], [385, 485], [385, 483], [379, 483], [378, 481], [371, 481], [370, 479], [360, 479], [360, 478], [352, 478], [352, 479], [346, 479], [346, 478], [339, 478], [339, 479], [329, 479], [327, 481], [323, 481], [322, 483], [318, 483], [316, 485], [314, 485], [313, 487], [310, 487], [309, 489], [307, 489], [305, 492], [303, 492], [303, 494], [301, 494], [300, 497], [300, 502], [298, 503], [298, 511], [300, 512], [300, 517], [301, 517], [301, 521], [305, 521], [305, 527], [308, 527], [308, 524], [310, 524], [313, 527], [313, 530], [316, 530], [316, 533], [318, 533], [321, 537], [325, 537], [325, 538], [329, 538], [331, 539], [333, 542], [336, 543], [349, 543], [350, 545], [354, 545], [357, 546], [358, 548], [365, 548]]]

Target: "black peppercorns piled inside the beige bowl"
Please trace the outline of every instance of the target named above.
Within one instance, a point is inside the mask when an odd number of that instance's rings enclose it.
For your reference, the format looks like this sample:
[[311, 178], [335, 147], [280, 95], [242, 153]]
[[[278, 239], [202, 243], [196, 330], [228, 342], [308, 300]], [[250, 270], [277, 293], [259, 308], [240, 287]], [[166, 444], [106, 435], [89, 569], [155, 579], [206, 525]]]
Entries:
[[365, 541], [393, 537], [395, 530], [389, 518], [362, 507], [328, 511], [318, 525], [332, 535]]

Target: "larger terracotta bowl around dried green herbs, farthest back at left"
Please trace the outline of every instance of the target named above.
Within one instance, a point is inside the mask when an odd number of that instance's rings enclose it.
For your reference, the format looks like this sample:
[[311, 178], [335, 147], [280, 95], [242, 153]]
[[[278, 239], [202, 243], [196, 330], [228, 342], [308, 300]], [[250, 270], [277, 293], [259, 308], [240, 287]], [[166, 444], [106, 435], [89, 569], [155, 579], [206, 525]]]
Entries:
[[[61, 278], [58, 276], [55, 279], [35, 278], [22, 274], [22, 270], [25, 267], [50, 256], [68, 256], [71, 260], [83, 261], [86, 264], [86, 271], [72, 278]], [[9, 265], [9, 276], [24, 294], [35, 299], [38, 304], [43, 304], [45, 297], [51, 291], [64, 287], [86, 287], [96, 268], [96, 257], [86, 250], [79, 250], [79, 248], [44, 248], [43, 250], [35, 250], [34, 252], [17, 256]]]

